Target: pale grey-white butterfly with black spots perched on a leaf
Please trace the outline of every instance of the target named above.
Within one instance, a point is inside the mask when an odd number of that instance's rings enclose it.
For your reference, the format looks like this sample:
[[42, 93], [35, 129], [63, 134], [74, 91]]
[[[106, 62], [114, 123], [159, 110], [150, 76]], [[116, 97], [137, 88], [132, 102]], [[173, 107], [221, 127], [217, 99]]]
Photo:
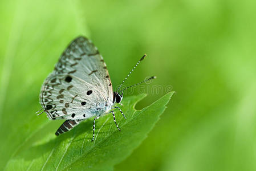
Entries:
[[114, 92], [103, 57], [91, 40], [79, 36], [68, 45], [56, 63], [54, 71], [44, 80], [39, 97], [42, 108], [36, 113], [43, 109], [38, 115], [45, 112], [50, 120], [66, 120], [56, 131], [56, 136], [70, 131], [83, 120], [94, 117], [94, 141], [95, 120], [107, 113], [112, 113], [116, 127], [120, 131], [114, 110], [118, 109], [125, 119], [126, 117], [119, 107], [114, 106], [121, 103], [124, 90], [156, 78], [152, 76], [119, 91], [146, 56], [143, 55]]

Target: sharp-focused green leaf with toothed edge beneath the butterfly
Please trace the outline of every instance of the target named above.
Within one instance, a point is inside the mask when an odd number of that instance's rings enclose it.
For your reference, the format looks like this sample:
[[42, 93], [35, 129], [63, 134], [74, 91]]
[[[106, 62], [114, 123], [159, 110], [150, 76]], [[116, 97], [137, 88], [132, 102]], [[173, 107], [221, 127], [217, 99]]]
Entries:
[[92, 119], [84, 121], [64, 135], [56, 137], [51, 123], [43, 125], [9, 160], [6, 170], [111, 170], [124, 160], [147, 137], [165, 110], [173, 92], [140, 111], [135, 109], [145, 95], [128, 96], [121, 106], [127, 119], [117, 110], [96, 121], [95, 141], [92, 139]]

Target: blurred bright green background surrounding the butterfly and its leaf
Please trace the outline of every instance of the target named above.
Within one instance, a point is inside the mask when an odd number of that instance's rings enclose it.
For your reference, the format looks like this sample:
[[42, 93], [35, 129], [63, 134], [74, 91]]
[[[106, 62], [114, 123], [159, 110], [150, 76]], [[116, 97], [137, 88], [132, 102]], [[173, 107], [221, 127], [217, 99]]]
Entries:
[[47, 120], [34, 115], [40, 86], [67, 44], [84, 35], [103, 55], [113, 87], [148, 55], [126, 83], [157, 76], [136, 108], [170, 86], [176, 91], [147, 139], [115, 170], [255, 170], [255, 5], [1, 1], [0, 169], [34, 129], [30, 122]]

